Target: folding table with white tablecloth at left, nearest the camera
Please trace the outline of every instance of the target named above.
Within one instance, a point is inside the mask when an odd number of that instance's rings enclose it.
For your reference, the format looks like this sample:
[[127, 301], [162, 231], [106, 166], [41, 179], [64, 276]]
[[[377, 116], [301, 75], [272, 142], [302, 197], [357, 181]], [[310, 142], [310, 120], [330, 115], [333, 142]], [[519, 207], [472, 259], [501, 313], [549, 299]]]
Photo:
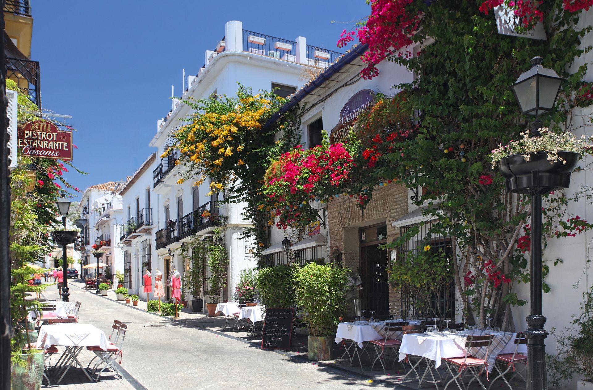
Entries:
[[93, 382], [85, 367], [78, 361], [78, 355], [84, 347], [90, 345], [98, 345], [103, 350], [107, 350], [109, 339], [101, 329], [91, 324], [43, 325], [37, 337], [37, 348], [47, 349], [52, 345], [66, 348], [64, 355], [56, 362], [56, 366], [63, 362], [63, 368], [58, 372], [58, 375], [60, 373], [62, 375], [56, 384], [62, 381], [62, 378], [74, 363], [82, 369], [88, 380]]

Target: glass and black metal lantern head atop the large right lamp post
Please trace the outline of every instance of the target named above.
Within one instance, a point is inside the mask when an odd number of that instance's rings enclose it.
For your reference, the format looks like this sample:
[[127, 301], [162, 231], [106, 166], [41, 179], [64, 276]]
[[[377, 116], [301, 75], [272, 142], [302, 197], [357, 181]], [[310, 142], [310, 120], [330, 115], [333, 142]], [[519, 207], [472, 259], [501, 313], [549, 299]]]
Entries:
[[526, 115], [541, 115], [551, 111], [560, 91], [560, 83], [565, 80], [552, 69], [541, 66], [543, 58], [531, 59], [531, 69], [522, 73], [511, 89], [517, 97], [521, 112]]

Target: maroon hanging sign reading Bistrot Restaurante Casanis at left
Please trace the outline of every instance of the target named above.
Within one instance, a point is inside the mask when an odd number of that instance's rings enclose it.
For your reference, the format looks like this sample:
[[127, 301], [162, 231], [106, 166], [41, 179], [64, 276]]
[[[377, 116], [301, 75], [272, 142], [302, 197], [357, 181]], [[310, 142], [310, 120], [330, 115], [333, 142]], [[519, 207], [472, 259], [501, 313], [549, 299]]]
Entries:
[[27, 122], [18, 131], [18, 149], [23, 156], [72, 160], [72, 132], [42, 119]]

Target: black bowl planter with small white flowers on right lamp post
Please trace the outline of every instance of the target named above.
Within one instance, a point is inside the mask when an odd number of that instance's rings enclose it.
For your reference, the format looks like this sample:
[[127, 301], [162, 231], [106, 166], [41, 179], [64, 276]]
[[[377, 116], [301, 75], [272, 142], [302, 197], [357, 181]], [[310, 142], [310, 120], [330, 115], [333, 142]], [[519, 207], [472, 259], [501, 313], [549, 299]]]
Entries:
[[492, 166], [498, 164], [509, 192], [527, 193], [535, 186], [546, 191], [566, 188], [570, 173], [587, 146], [584, 138], [569, 133], [555, 134], [547, 128], [541, 129], [540, 135], [530, 137], [527, 131], [518, 141], [505, 146], [499, 144], [492, 151]]

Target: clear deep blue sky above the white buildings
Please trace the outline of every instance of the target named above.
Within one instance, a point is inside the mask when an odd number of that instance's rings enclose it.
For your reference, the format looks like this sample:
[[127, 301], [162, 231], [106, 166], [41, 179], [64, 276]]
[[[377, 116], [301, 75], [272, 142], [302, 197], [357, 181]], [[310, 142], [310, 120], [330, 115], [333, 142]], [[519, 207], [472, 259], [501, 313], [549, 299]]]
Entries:
[[33, 0], [31, 7], [42, 105], [72, 115], [73, 163], [88, 175], [66, 179], [82, 191], [132, 175], [154, 151], [148, 142], [171, 108], [171, 85], [179, 96], [182, 69], [197, 73], [227, 21], [343, 51], [341, 31], [369, 14], [364, 0]]

